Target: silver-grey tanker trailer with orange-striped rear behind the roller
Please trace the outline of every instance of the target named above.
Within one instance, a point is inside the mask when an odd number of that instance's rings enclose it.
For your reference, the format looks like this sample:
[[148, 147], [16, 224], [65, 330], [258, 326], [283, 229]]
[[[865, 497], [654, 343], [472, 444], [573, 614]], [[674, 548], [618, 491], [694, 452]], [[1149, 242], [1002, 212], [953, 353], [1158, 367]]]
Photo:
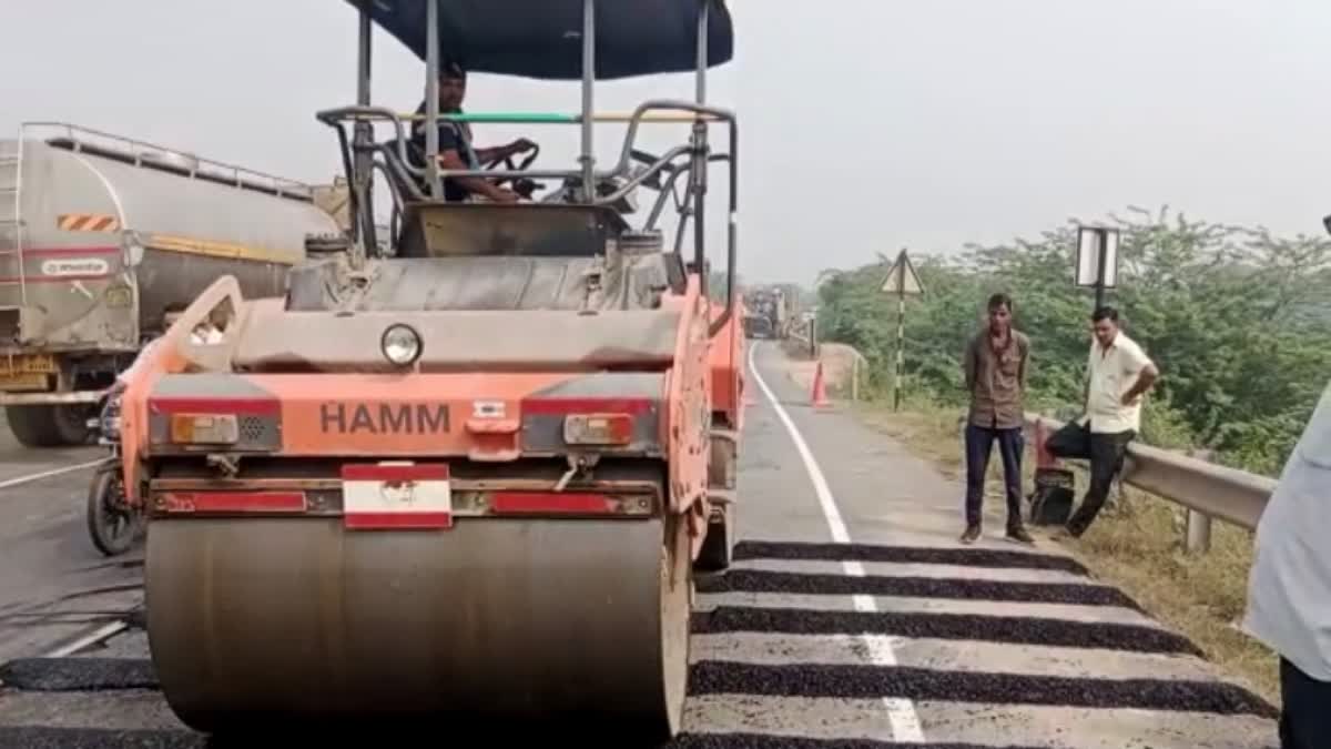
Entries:
[[[345, 192], [345, 188], [341, 188]], [[81, 444], [141, 344], [218, 276], [280, 296], [325, 188], [63, 123], [0, 140], [0, 404], [29, 446]]]

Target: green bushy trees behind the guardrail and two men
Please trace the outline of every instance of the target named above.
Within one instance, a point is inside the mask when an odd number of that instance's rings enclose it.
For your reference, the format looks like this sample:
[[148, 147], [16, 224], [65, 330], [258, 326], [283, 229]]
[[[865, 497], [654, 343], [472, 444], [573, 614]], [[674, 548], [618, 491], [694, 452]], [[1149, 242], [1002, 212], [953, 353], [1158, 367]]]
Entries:
[[[1278, 474], [1331, 378], [1331, 241], [1167, 208], [1129, 208], [1105, 224], [1122, 232], [1118, 288], [1106, 304], [1162, 373], [1141, 438]], [[1006, 292], [1032, 337], [1028, 409], [1079, 413], [1094, 295], [1073, 285], [1075, 227], [912, 256], [926, 295], [906, 307], [905, 392], [960, 408], [962, 348], [984, 324], [989, 295]], [[890, 386], [896, 352], [896, 299], [878, 291], [890, 260], [825, 271], [817, 288], [821, 340], [868, 357], [872, 392]]]

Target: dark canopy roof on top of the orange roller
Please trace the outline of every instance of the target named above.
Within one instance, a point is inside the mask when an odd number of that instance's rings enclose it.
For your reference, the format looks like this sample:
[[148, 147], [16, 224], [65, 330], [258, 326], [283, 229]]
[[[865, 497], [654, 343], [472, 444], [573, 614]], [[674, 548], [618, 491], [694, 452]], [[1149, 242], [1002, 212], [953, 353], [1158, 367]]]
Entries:
[[[426, 59], [426, 0], [346, 0]], [[724, 0], [705, 0], [708, 67], [735, 53]], [[596, 77], [693, 71], [700, 0], [599, 0]], [[439, 59], [470, 72], [582, 79], [583, 0], [439, 0]]]

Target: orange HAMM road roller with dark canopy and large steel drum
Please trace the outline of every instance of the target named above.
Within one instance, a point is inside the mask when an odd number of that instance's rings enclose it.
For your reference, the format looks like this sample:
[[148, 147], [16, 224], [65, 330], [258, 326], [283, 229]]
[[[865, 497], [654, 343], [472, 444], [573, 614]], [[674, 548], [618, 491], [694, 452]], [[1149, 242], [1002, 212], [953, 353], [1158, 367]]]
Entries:
[[[317, 115], [351, 188], [341, 248], [294, 267], [282, 296], [218, 279], [124, 394], [162, 693], [218, 736], [466, 718], [668, 740], [695, 574], [723, 574], [735, 542], [737, 124], [704, 100], [732, 56], [728, 9], [350, 4], [357, 103]], [[419, 115], [370, 103], [377, 29], [425, 61]], [[582, 109], [441, 112], [445, 64], [580, 79]], [[598, 79], [688, 71], [693, 99], [592, 109]], [[598, 167], [604, 121], [623, 144]], [[454, 168], [445, 123], [570, 124], [580, 156]], [[669, 125], [677, 145], [639, 148]], [[724, 273], [705, 247], [709, 167], [728, 176]], [[526, 197], [450, 200], [458, 179]]]

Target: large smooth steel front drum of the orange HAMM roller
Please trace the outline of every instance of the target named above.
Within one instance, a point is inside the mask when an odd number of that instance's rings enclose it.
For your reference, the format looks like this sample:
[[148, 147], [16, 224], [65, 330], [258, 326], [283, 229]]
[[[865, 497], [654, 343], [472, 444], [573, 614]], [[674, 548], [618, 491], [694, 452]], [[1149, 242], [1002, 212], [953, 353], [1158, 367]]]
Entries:
[[664, 740], [679, 730], [688, 680], [683, 528], [154, 520], [153, 664], [172, 709], [205, 733], [466, 717]]

